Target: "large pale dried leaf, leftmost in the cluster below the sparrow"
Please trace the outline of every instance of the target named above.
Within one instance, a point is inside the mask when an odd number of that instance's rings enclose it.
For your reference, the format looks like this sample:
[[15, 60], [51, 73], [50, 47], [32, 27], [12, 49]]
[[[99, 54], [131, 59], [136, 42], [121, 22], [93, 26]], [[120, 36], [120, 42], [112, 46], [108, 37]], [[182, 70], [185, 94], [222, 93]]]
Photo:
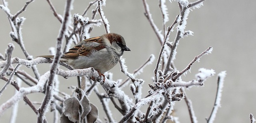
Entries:
[[72, 122], [79, 122], [79, 100], [75, 97], [67, 98], [63, 102], [63, 114]]

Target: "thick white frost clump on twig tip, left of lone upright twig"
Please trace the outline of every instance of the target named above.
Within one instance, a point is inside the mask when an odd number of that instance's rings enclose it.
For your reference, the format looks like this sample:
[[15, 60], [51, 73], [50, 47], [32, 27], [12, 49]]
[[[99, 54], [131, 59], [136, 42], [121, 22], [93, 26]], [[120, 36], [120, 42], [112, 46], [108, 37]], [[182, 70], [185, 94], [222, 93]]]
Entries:
[[195, 75], [195, 77], [196, 77], [197, 81], [199, 81], [199, 82], [203, 82], [208, 77], [211, 77], [215, 74], [213, 69], [209, 70], [209, 69], [205, 69], [205, 68], [200, 68], [198, 71], [199, 71], [199, 73], [197, 73]]

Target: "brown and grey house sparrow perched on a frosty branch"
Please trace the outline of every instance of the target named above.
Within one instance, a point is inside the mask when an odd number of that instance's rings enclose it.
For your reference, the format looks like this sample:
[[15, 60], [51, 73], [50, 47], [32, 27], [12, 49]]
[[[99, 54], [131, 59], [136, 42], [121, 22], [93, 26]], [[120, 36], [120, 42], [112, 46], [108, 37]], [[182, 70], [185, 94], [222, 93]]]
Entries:
[[[93, 67], [101, 74], [109, 71], [119, 62], [123, 51], [130, 51], [123, 36], [108, 33], [77, 43], [60, 60], [76, 69]], [[53, 58], [54, 56], [43, 55], [38, 57]]]

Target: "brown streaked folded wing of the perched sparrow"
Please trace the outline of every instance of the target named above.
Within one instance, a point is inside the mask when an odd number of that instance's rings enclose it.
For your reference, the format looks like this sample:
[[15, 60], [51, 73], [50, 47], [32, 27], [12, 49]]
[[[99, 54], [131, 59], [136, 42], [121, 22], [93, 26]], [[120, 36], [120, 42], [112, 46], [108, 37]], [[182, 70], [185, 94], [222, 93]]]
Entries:
[[[96, 42], [96, 43], [93, 43]], [[102, 37], [93, 37], [90, 39], [85, 39], [81, 42], [79, 42], [78, 44], [76, 44], [76, 46], [74, 46], [73, 48], [69, 49], [69, 52], [66, 52], [62, 58], [67, 58], [67, 59], [74, 59], [77, 58], [79, 56], [88, 56], [90, 55], [93, 51], [97, 51], [97, 50], [101, 50], [103, 48], [105, 48], [104, 45], [99, 45], [102, 44]], [[97, 45], [95, 45], [97, 44]]]

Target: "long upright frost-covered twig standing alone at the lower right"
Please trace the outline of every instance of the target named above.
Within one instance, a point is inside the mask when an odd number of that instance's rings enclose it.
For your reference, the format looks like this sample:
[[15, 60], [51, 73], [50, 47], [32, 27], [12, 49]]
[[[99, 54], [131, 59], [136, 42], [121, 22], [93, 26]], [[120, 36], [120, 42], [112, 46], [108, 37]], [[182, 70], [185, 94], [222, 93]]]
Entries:
[[206, 119], [207, 123], [213, 123], [217, 111], [218, 111], [218, 107], [220, 107], [220, 100], [221, 100], [221, 92], [223, 89], [223, 82], [224, 82], [224, 78], [226, 76], [226, 71], [222, 71], [218, 74], [218, 87], [217, 87], [217, 93], [216, 93], [216, 98], [215, 98], [215, 103], [213, 106], [213, 109], [211, 111], [211, 114], [209, 116], [208, 119]]

